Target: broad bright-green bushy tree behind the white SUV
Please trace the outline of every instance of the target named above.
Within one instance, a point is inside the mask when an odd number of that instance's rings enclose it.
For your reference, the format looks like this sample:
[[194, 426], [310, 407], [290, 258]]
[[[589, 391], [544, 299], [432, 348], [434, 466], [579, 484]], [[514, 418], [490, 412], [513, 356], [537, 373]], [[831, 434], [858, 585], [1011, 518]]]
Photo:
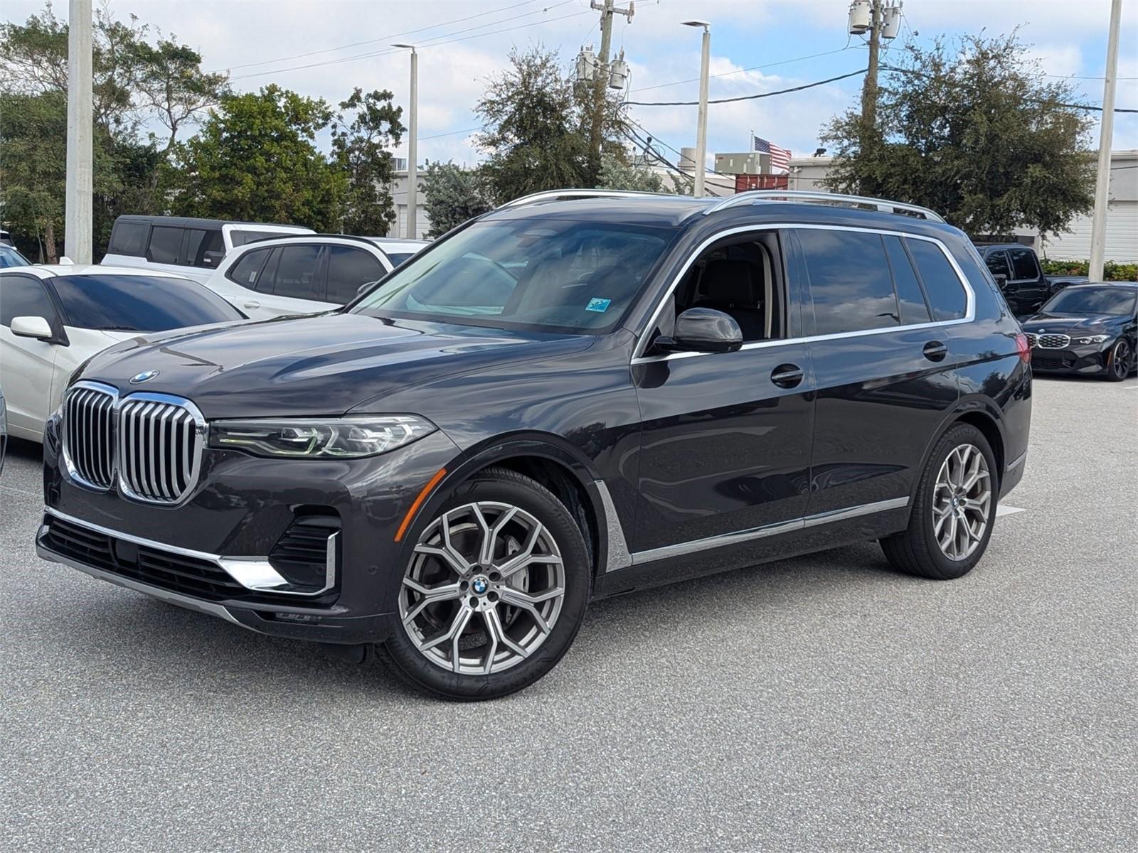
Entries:
[[331, 121], [322, 99], [277, 85], [224, 96], [200, 132], [174, 147], [173, 212], [339, 229], [347, 177], [315, 144]]

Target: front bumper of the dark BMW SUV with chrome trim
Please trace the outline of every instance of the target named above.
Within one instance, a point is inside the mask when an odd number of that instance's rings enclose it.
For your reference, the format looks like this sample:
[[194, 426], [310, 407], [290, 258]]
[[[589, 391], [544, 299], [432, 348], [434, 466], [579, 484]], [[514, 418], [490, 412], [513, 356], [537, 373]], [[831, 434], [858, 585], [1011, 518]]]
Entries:
[[[36, 553], [262, 633], [378, 641], [389, 630], [397, 587], [391, 571], [403, 565], [406, 547], [394, 541], [395, 531], [423, 483], [457, 454], [440, 432], [366, 459], [279, 461], [207, 450], [189, 499], [156, 506], [76, 485], [60, 464], [49, 422]], [[275, 555], [298, 520], [311, 517], [328, 522], [333, 535], [320, 577], [298, 593], [281, 582]]]

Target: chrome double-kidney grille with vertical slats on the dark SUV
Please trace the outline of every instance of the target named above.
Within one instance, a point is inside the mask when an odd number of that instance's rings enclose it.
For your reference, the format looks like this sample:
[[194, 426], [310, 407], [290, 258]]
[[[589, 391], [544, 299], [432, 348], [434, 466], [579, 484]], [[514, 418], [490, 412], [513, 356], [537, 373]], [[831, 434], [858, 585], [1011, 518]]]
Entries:
[[126, 498], [180, 503], [197, 482], [205, 420], [192, 403], [159, 394], [119, 398], [83, 381], [64, 401], [64, 461], [72, 479], [98, 491], [117, 480]]

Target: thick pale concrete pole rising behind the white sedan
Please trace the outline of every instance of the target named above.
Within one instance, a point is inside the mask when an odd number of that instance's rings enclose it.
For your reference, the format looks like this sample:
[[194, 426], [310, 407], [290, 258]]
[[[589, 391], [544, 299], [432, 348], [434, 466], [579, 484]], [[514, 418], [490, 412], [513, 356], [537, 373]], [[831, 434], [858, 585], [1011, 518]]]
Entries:
[[67, 10], [67, 181], [64, 255], [91, 263], [91, 0]]

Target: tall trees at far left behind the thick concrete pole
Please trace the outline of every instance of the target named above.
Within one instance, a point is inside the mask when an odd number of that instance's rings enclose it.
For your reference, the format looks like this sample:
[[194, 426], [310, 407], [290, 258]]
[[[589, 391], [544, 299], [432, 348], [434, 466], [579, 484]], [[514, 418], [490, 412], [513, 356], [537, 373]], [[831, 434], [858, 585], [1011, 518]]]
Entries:
[[[224, 91], [225, 75], [204, 73], [197, 51], [174, 36], [164, 39], [133, 16], [115, 19], [107, 6], [96, 9], [92, 60], [98, 256], [119, 214], [165, 212], [158, 176], [166, 155], [179, 130]], [[0, 216], [17, 238], [47, 240], [44, 256], [53, 257], [63, 238], [67, 24], [50, 2], [23, 24], [0, 25], [0, 91], [6, 98], [32, 99], [5, 105], [9, 132], [17, 135], [0, 135], [0, 164], [6, 176], [18, 175], [19, 181], [0, 180]], [[61, 111], [56, 108], [60, 103]], [[39, 116], [40, 129], [13, 115], [17, 109]], [[160, 141], [149, 131], [157, 126], [166, 129]]]

